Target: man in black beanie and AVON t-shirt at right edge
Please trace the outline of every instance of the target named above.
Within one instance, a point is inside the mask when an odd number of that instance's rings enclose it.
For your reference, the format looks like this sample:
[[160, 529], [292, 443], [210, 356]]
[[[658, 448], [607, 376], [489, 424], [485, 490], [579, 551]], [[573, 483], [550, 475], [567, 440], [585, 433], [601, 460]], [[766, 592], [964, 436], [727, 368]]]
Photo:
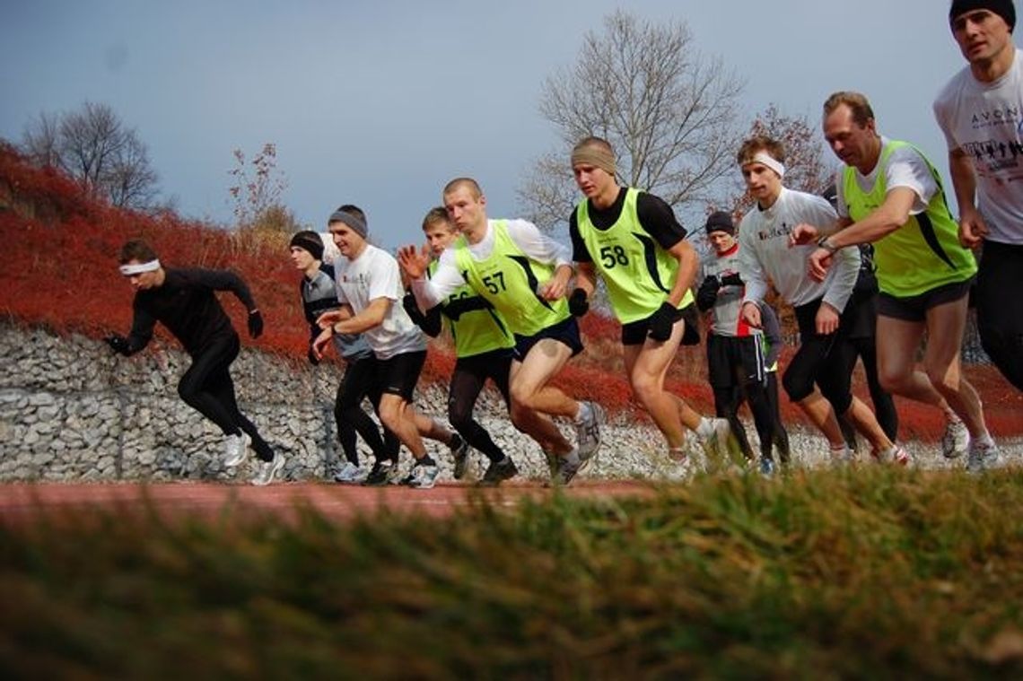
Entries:
[[1023, 52], [1012, 0], [955, 0], [952, 37], [968, 65], [934, 101], [948, 144], [960, 240], [983, 245], [977, 327], [984, 352], [1023, 391]]

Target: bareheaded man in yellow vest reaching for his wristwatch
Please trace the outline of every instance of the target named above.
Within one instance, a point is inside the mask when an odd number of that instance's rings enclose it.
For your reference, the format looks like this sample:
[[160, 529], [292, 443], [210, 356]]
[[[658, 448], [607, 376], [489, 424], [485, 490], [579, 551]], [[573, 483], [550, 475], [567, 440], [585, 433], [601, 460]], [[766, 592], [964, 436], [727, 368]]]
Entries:
[[[938, 172], [910, 144], [878, 134], [874, 109], [858, 92], [828, 98], [824, 133], [845, 168], [836, 177], [836, 231], [819, 238], [810, 254], [810, 276], [826, 276], [833, 256], [843, 247], [875, 244], [882, 385], [939, 409], [947, 404], [970, 434], [968, 470], [997, 466], [998, 450], [960, 358], [977, 264], [959, 242]], [[800, 225], [793, 239], [805, 243], [822, 233]], [[919, 371], [917, 353], [925, 332], [924, 371]], [[954, 426], [949, 419], [949, 427]]]

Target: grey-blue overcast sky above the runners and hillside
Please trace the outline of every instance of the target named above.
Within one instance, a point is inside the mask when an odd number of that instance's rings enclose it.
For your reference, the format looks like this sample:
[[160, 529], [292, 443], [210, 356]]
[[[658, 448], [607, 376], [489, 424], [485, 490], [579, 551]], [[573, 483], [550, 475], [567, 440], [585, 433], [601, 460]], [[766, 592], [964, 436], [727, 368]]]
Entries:
[[299, 221], [321, 229], [358, 203], [389, 246], [418, 240], [455, 176], [480, 180], [492, 217], [516, 215], [530, 162], [557, 148], [543, 80], [618, 7], [685, 20], [747, 80], [750, 117], [773, 102], [816, 124], [831, 92], [866, 93], [882, 133], [945, 178], [931, 102], [965, 63], [946, 0], [2, 2], [0, 136], [19, 140], [41, 111], [108, 104], [147, 144], [164, 197], [225, 224], [232, 150], [274, 142]]

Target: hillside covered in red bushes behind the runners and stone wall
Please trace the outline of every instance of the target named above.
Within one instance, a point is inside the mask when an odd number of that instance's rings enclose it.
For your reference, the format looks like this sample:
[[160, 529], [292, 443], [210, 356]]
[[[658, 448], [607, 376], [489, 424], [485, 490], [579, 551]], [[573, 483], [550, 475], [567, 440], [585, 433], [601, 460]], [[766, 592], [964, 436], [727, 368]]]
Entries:
[[[117, 256], [126, 240], [141, 237], [167, 265], [227, 268], [241, 274], [266, 320], [263, 336], [252, 340], [242, 334], [243, 343], [305, 361], [307, 326], [298, 301], [299, 274], [287, 258], [285, 235], [235, 234], [170, 212], [153, 216], [114, 209], [90, 199], [56, 171], [33, 167], [3, 143], [0, 235], [4, 243], [0, 286], [3, 312], [10, 322], [96, 338], [126, 332], [133, 293], [118, 272]], [[243, 328], [241, 306], [230, 296], [223, 301], [236, 327]], [[590, 314], [582, 320], [582, 329], [586, 351], [559, 376], [559, 384], [575, 396], [601, 402], [613, 413], [627, 411], [644, 418], [636, 413], [624, 378], [617, 322]], [[166, 333], [158, 334], [158, 339], [169, 340]], [[450, 348], [435, 344], [424, 379], [446, 381], [453, 364]], [[985, 398], [995, 432], [1023, 432], [1020, 395], [992, 367], [969, 367], [969, 375]], [[679, 352], [668, 384], [698, 411], [712, 410], [702, 346]], [[787, 421], [802, 418], [784, 398], [783, 403]], [[940, 433], [940, 414], [904, 401], [899, 406], [907, 436]]]

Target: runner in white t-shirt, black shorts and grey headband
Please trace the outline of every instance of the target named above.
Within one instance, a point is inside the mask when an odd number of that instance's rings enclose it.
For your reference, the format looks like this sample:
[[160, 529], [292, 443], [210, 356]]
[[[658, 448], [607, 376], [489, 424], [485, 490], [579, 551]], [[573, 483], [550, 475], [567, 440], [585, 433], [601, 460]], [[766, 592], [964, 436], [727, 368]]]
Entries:
[[[335, 265], [335, 286], [340, 309], [320, 315], [323, 329], [313, 342], [317, 358], [340, 333], [362, 333], [373, 351], [373, 391], [379, 391], [379, 414], [384, 427], [397, 436], [411, 452], [415, 463], [402, 481], [410, 487], [434, 487], [437, 462], [427, 453], [422, 437], [443, 442], [457, 457], [466, 447], [456, 433], [416, 412], [412, 395], [427, 359], [427, 343], [419, 328], [401, 305], [404, 287], [398, 262], [386, 251], [366, 240], [365, 214], [352, 205], [342, 206], [327, 221], [327, 229], [341, 253]], [[361, 400], [361, 398], [360, 398]], [[358, 402], [342, 406], [347, 417], [361, 411]], [[398, 481], [397, 453], [393, 459], [377, 458], [366, 478], [367, 485]]]

